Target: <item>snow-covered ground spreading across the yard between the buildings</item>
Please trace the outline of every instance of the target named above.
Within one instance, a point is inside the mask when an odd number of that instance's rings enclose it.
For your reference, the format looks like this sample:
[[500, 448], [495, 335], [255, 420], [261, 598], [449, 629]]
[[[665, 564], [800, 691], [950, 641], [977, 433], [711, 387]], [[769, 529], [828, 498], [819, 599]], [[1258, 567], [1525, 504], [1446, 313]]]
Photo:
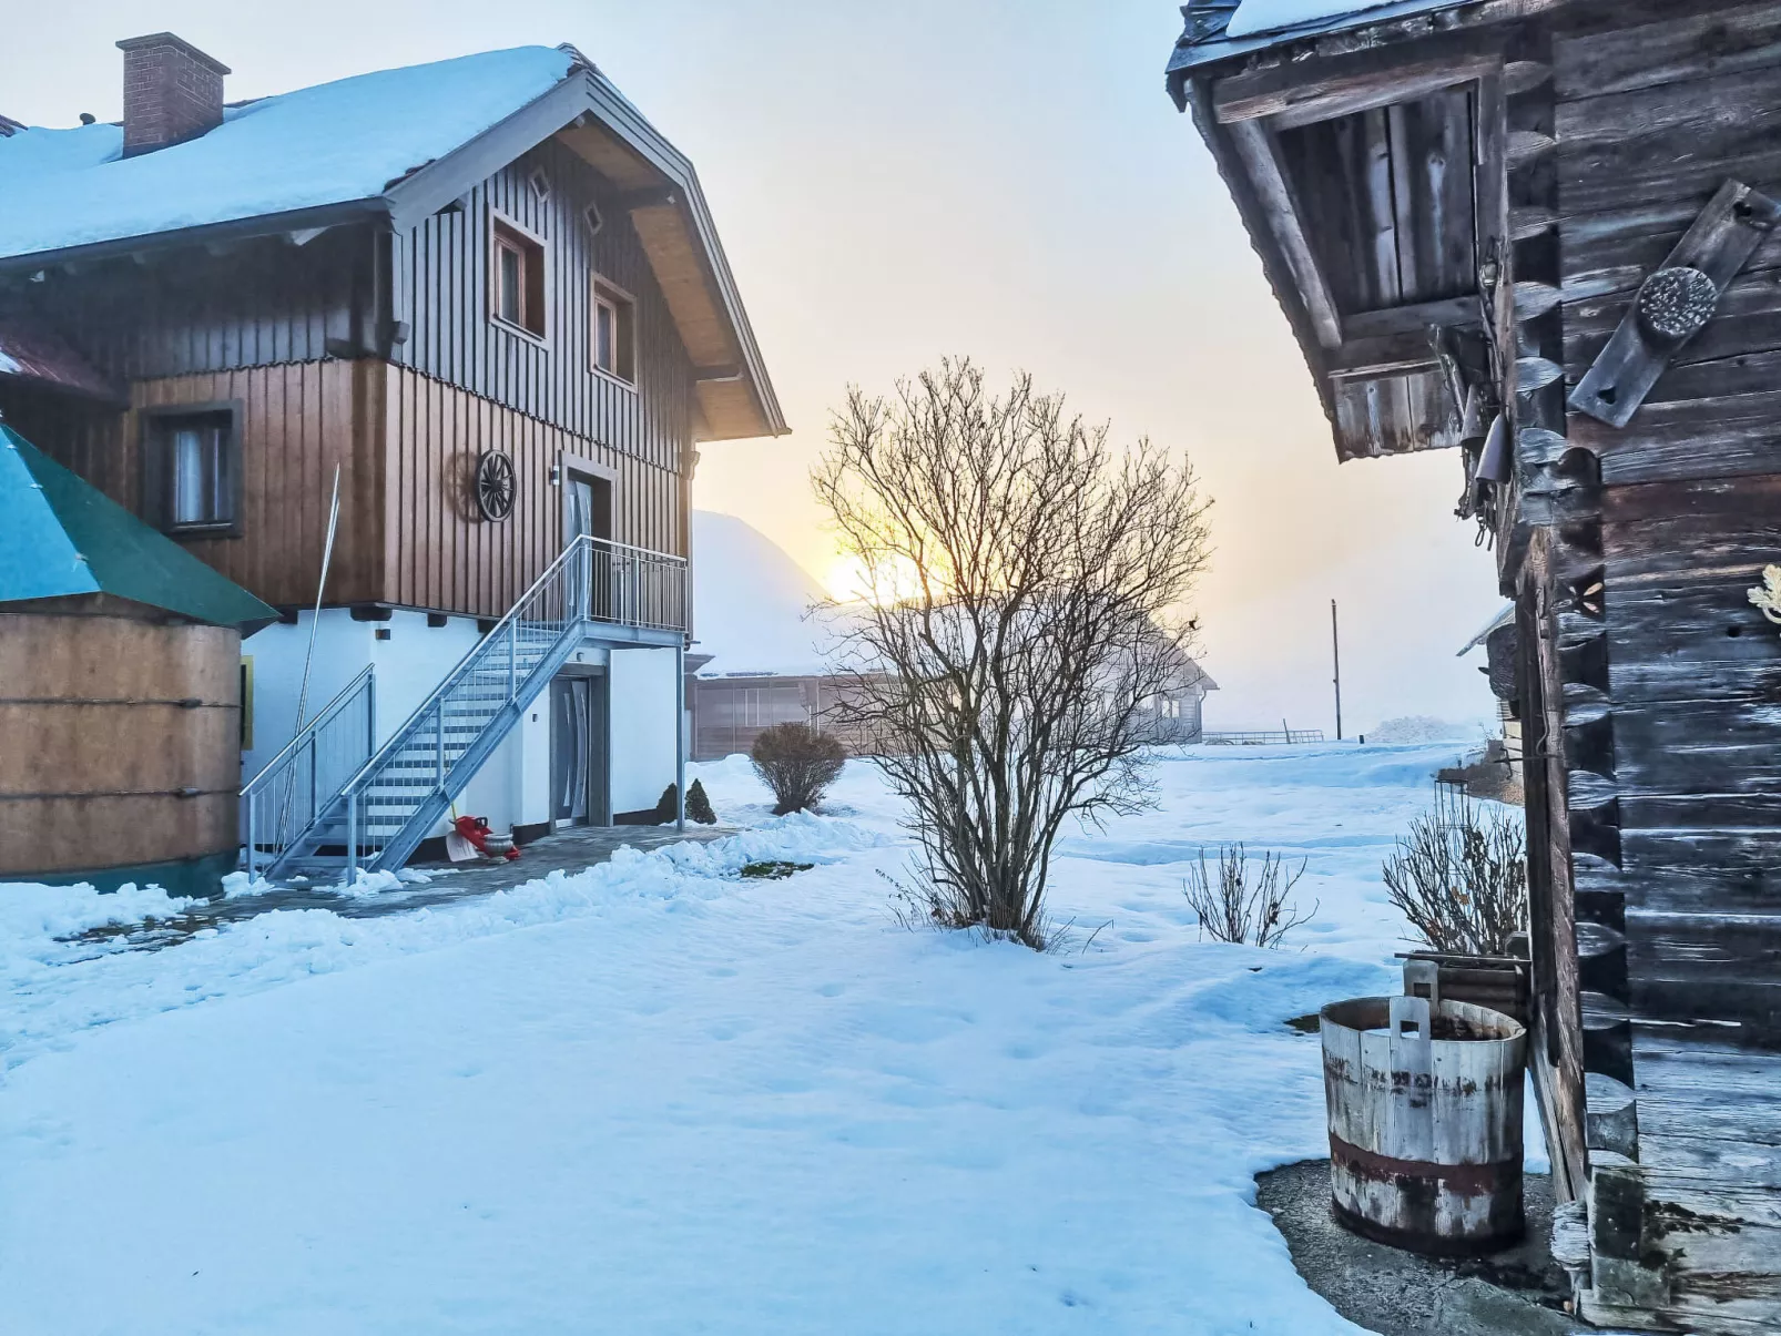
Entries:
[[[1395, 987], [1378, 862], [1453, 754], [1163, 754], [1067, 841], [1049, 955], [898, 926], [864, 764], [823, 818], [732, 757], [736, 839], [157, 953], [55, 937], [159, 892], [0, 887], [0, 1331], [1357, 1331], [1252, 1176], [1325, 1151], [1284, 1021]], [[1309, 860], [1284, 951], [1199, 941], [1234, 839]]]

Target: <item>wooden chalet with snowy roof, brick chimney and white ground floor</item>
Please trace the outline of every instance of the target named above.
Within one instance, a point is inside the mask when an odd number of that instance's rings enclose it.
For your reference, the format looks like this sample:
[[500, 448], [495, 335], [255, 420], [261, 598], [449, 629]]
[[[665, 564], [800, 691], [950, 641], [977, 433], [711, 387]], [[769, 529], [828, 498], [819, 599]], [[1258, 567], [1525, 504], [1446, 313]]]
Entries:
[[698, 444], [785, 429], [693, 164], [570, 46], [246, 103], [119, 46], [121, 125], [0, 118], [0, 415], [280, 609], [255, 866], [654, 809]]

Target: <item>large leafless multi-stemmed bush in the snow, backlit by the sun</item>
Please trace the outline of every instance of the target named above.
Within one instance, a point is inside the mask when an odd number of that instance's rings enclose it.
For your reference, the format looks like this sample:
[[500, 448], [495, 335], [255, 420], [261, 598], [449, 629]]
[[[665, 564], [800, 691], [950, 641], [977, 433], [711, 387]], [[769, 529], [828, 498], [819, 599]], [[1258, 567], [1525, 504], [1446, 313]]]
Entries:
[[908, 800], [921, 896], [951, 926], [1042, 948], [1067, 818], [1138, 811], [1156, 698], [1186, 664], [1206, 563], [1191, 468], [969, 360], [850, 392], [814, 483], [862, 570], [834, 618], [837, 720]]

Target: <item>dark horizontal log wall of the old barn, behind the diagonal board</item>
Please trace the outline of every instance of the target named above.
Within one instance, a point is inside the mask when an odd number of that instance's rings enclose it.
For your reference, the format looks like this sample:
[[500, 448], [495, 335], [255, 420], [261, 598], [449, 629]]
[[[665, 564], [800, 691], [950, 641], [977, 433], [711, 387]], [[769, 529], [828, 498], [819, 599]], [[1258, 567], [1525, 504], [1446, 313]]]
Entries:
[[[1781, 4], [1580, 11], [1553, 34], [1564, 363], [1578, 381], [1729, 176], [1781, 194]], [[1781, 1327], [1781, 634], [1745, 591], [1781, 561], [1781, 237], [1624, 429], [1573, 413], [1601, 476], [1603, 607], [1624, 896], [1594, 987], [1637, 1090], [1628, 1267], [1662, 1288], [1598, 1320]], [[1606, 737], [1606, 734], [1603, 734]], [[1589, 978], [1582, 980], [1587, 990]], [[1587, 998], [1587, 992], [1585, 992]], [[1612, 1017], [1608, 1017], [1612, 1021]], [[1592, 1071], [1605, 1067], [1592, 1065]], [[1598, 1183], [1598, 1192], [1601, 1183]]]

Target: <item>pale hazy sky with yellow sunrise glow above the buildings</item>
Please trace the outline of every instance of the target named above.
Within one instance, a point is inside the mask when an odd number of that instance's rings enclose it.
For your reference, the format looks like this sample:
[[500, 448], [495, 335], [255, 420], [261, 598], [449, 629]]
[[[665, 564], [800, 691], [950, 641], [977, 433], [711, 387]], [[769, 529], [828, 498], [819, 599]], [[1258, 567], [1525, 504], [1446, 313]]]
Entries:
[[[1309, 372], [1191, 121], [1163, 91], [1174, 0], [89, 0], [5, 20], [0, 114], [121, 114], [114, 43], [173, 30], [230, 100], [570, 41], [698, 167], [789, 436], [709, 444], [695, 504], [817, 579], [809, 485], [848, 385], [947, 354], [1029, 371], [1213, 497], [1193, 595], [1213, 729], [1482, 720], [1500, 607], [1453, 518], [1453, 452], [1338, 467]], [[696, 565], [696, 554], [695, 554]]]

